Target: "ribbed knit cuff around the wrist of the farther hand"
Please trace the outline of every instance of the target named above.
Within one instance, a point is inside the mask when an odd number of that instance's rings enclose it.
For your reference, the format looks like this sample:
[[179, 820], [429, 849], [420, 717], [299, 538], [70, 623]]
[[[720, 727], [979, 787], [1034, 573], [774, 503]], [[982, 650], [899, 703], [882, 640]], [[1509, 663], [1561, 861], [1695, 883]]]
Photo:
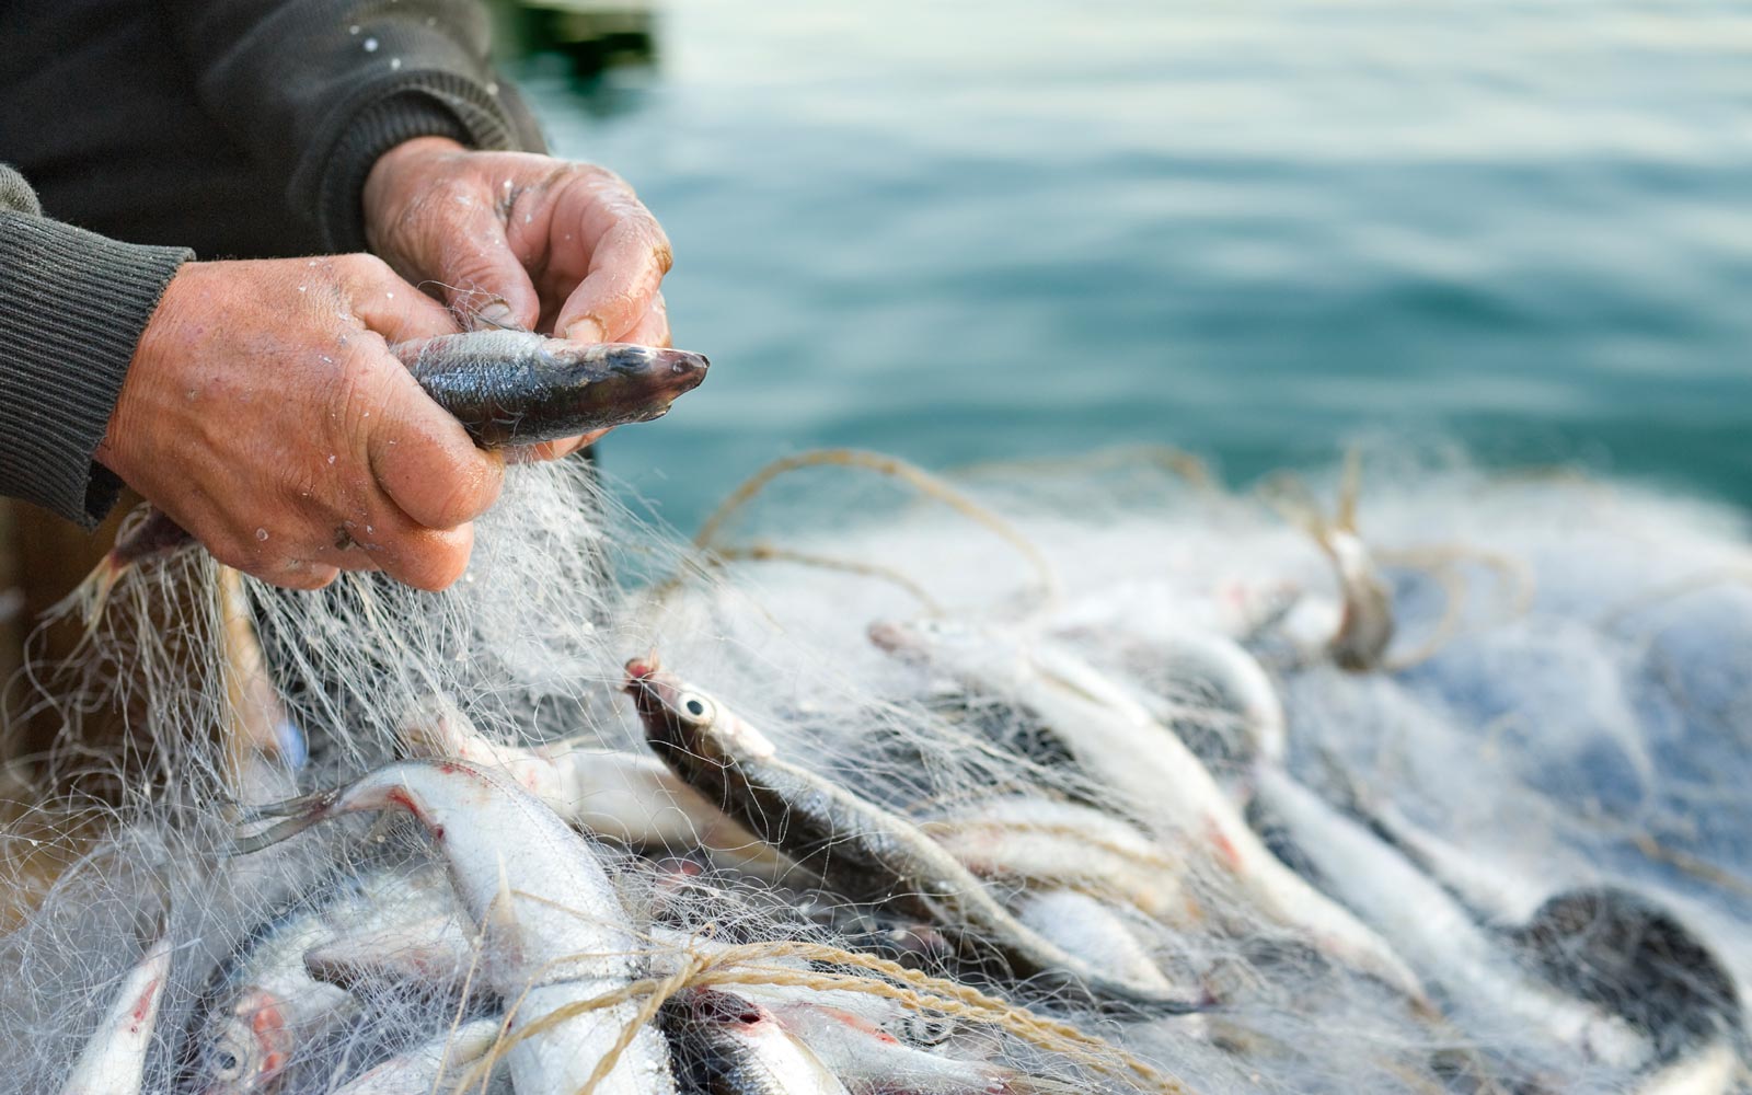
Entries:
[[378, 156], [415, 137], [449, 137], [473, 149], [524, 147], [529, 138], [515, 110], [499, 102], [498, 88], [450, 72], [405, 74], [363, 96], [331, 152], [315, 161], [321, 175], [294, 177], [293, 193], [314, 187], [317, 228], [329, 251], [364, 251], [364, 179]]

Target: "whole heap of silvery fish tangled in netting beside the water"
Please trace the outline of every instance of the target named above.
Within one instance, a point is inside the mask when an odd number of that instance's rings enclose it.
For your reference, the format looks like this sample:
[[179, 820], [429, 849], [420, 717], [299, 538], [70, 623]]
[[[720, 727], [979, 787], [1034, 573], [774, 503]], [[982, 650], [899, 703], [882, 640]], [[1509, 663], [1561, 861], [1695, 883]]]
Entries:
[[[1291, 524], [929, 482], [1039, 582], [901, 510], [671, 545], [559, 620], [524, 583], [603, 540], [529, 517], [575, 513], [554, 470], [445, 597], [189, 569], [226, 790], [130, 818], [182, 862], [128, 890], [131, 958], [19, 1013], [79, 1053], [0, 1086], [1743, 1090], [1733, 520], [1430, 473], [1365, 541], [1354, 475], [1335, 519], [1277, 484]], [[932, 580], [960, 608], [909, 606]], [[109, 839], [42, 923], [119, 885]], [[26, 983], [47, 937], [14, 932]]]

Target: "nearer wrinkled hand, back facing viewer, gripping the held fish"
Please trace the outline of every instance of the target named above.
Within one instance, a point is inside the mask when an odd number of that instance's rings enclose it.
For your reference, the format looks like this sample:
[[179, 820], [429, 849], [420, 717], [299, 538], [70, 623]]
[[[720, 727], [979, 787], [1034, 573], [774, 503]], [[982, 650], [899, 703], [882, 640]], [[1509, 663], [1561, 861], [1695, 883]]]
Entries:
[[187, 263], [96, 457], [224, 564], [294, 589], [382, 569], [443, 589], [503, 461], [387, 343], [454, 333], [371, 256]]

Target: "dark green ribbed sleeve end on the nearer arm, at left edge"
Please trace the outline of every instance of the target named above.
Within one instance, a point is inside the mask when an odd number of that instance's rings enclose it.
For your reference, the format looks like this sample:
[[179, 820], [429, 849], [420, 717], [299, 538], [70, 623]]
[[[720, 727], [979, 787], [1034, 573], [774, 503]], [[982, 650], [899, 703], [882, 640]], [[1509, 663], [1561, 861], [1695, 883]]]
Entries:
[[0, 494], [91, 527], [119, 482], [91, 456], [140, 331], [191, 252], [42, 215], [0, 165]]

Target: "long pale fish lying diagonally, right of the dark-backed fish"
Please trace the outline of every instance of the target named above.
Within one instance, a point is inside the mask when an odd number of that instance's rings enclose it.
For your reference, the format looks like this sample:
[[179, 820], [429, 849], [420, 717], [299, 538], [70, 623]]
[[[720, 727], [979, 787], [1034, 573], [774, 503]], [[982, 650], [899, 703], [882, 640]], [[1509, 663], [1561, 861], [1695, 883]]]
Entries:
[[1120, 809], [1186, 862], [1216, 867], [1270, 920], [1423, 1000], [1417, 976], [1393, 946], [1274, 857], [1191, 750], [1095, 666], [1049, 639], [946, 620], [876, 624], [871, 639], [1032, 711], [1083, 771], [1107, 783]]

